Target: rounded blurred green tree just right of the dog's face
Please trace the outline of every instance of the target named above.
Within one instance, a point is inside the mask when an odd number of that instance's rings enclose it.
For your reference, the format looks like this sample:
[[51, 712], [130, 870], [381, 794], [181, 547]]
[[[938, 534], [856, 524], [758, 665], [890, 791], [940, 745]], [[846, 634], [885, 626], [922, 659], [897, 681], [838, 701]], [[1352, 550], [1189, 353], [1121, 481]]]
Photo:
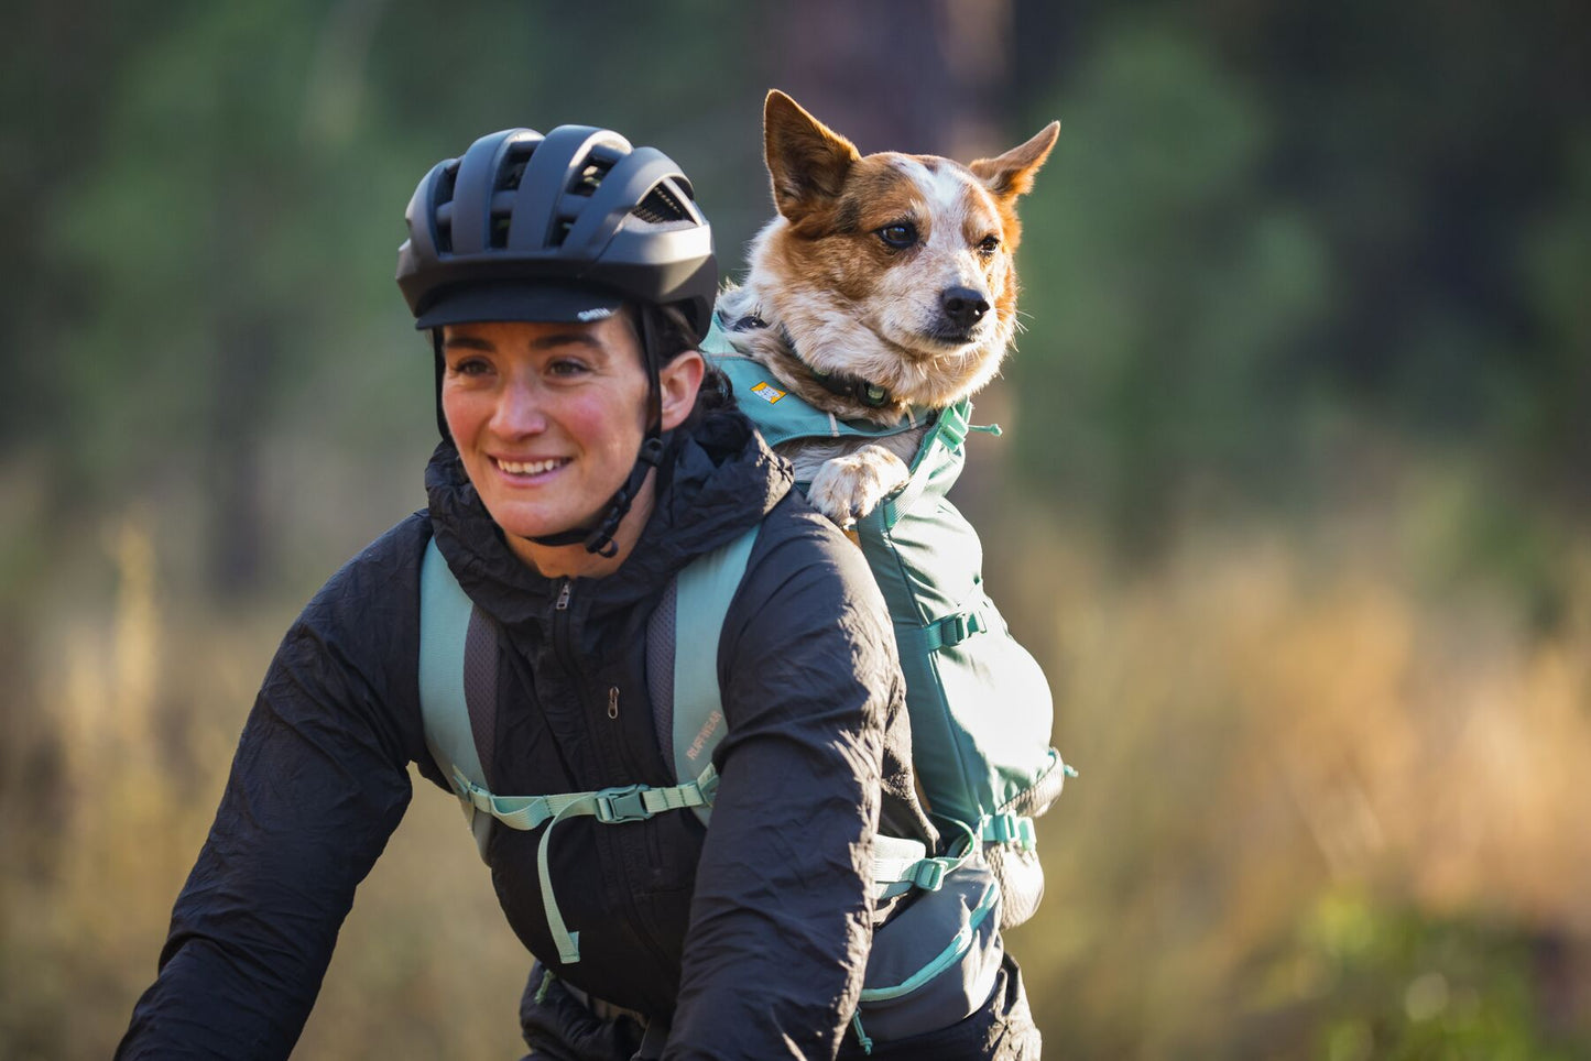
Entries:
[[1263, 107], [1165, 22], [1103, 32], [1048, 107], [1061, 142], [1025, 205], [1017, 444], [1153, 546], [1201, 469], [1287, 463], [1287, 353], [1325, 310], [1324, 250], [1265, 188]]

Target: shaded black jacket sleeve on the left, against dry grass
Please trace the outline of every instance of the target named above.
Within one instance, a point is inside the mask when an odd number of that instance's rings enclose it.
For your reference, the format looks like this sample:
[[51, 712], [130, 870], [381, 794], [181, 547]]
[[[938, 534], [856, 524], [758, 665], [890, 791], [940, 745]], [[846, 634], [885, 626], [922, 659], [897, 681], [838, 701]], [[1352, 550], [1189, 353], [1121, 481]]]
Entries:
[[399, 682], [414, 686], [418, 590], [393, 538], [339, 571], [277, 651], [118, 1058], [291, 1053], [410, 795], [391, 703], [417, 695]]

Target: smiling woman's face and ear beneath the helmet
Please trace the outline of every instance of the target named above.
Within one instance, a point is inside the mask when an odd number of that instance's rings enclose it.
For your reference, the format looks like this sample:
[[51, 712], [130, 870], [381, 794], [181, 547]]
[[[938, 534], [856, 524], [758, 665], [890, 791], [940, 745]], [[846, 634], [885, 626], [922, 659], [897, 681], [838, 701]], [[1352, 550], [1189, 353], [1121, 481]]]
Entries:
[[[519, 539], [593, 523], [646, 431], [646, 371], [628, 321], [449, 325], [442, 358], [447, 429], [511, 547], [531, 560], [533, 542]], [[678, 377], [690, 358], [686, 394]], [[700, 355], [663, 369], [663, 429], [689, 414], [700, 375]]]

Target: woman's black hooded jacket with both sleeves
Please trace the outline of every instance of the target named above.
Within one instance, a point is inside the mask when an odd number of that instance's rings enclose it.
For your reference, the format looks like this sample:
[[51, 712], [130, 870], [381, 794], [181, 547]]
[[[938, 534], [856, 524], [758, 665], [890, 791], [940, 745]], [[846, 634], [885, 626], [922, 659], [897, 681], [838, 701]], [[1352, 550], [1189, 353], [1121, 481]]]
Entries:
[[[563, 611], [565, 582], [509, 552], [450, 445], [426, 487], [430, 511], [333, 576], [283, 639], [118, 1056], [293, 1048], [355, 886], [403, 818], [407, 764], [442, 786], [417, 700], [418, 566], [433, 533], [501, 628], [488, 783], [539, 794], [673, 783], [646, 695], [646, 619], [681, 566], [757, 520], [719, 646], [729, 733], [713, 829], [687, 811], [562, 822], [552, 881], [581, 962], [550, 966], [671, 1020], [670, 1058], [834, 1056], [877, 916], [870, 835], [932, 840], [912, 791], [894, 639], [861, 554], [730, 412], [676, 439], [635, 550], [614, 574], [574, 581]], [[546, 961], [557, 951], [539, 837], [496, 827], [488, 861], [509, 924]]]

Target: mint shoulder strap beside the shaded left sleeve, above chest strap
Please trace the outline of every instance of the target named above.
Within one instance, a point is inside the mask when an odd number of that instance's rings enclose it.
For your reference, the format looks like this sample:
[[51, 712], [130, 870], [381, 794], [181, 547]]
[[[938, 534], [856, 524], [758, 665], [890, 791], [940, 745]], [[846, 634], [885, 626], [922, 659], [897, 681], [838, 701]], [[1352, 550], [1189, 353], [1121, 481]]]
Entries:
[[420, 562], [420, 716], [425, 721], [425, 744], [458, 795], [485, 859], [492, 816], [477, 813], [469, 800], [469, 784], [485, 787], [485, 770], [476, 751], [465, 670], [469, 635], [473, 627], [480, 630], [480, 625], [474, 603], [447, 568], [436, 539], [431, 539]]

